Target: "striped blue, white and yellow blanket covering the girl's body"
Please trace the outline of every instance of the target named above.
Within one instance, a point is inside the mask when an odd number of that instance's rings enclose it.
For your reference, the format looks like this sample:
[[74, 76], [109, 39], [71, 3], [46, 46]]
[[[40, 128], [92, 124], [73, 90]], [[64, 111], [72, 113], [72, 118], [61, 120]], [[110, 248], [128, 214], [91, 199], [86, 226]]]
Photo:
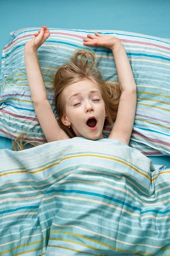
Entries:
[[2, 149], [0, 255], [169, 255], [169, 177], [119, 140]]

